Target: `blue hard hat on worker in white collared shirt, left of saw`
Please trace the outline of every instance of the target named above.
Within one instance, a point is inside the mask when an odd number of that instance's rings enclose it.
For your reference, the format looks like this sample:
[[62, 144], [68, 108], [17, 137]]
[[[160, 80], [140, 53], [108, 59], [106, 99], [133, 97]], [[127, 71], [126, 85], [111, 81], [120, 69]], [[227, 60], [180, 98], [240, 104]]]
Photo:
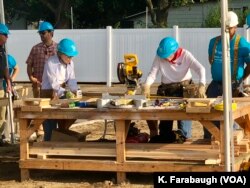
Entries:
[[58, 46], [57, 50], [69, 57], [76, 56], [78, 54], [78, 51], [76, 50], [76, 45], [71, 39], [62, 39]]

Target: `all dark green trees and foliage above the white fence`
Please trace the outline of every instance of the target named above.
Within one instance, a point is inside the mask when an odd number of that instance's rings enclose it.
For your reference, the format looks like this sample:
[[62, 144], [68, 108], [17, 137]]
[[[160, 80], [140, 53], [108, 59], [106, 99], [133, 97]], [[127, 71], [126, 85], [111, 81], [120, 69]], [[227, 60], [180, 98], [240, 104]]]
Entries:
[[[228, 0], [230, 2], [230, 0]], [[56, 29], [71, 28], [71, 7], [73, 8], [74, 28], [120, 27], [125, 17], [144, 12], [146, 2], [152, 3], [152, 22], [167, 27], [169, 7], [188, 6], [193, 3], [218, 2], [205, 19], [205, 27], [220, 27], [219, 0], [5, 0], [6, 23], [14, 17], [25, 18], [27, 23], [46, 20]], [[171, 4], [170, 4], [171, 3]], [[249, 12], [248, 12], [249, 13]], [[245, 23], [246, 12], [237, 12], [239, 26]]]

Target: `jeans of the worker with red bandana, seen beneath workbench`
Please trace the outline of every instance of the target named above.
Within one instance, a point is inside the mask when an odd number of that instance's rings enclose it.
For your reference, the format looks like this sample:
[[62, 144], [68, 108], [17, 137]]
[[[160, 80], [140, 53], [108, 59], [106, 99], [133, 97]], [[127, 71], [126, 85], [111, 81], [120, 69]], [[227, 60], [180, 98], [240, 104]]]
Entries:
[[[178, 120], [177, 121], [178, 129], [182, 131], [183, 135], [186, 138], [192, 137], [192, 121], [190, 120]], [[159, 124], [160, 135], [167, 137], [171, 135], [173, 129], [172, 120], [162, 120]]]

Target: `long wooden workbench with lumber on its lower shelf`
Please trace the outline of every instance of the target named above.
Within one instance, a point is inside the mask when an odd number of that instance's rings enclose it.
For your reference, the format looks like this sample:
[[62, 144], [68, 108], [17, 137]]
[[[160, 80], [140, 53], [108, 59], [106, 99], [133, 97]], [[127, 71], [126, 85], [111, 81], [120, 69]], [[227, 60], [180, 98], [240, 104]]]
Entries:
[[[249, 101], [249, 99], [248, 99]], [[42, 111], [15, 109], [20, 123], [21, 181], [30, 177], [30, 169], [86, 170], [117, 172], [117, 182], [126, 180], [126, 172], [224, 171], [223, 131], [212, 124], [217, 120], [224, 130], [223, 112], [186, 113], [166, 109], [43, 108]], [[250, 102], [238, 101], [233, 119], [250, 132]], [[41, 142], [29, 144], [30, 135], [45, 119], [114, 120], [116, 142]], [[32, 125], [30, 125], [33, 120]], [[184, 144], [127, 144], [129, 120], [194, 120], [214, 136], [215, 141]], [[236, 139], [234, 170], [250, 157], [249, 140]], [[243, 147], [242, 147], [243, 145]], [[237, 149], [237, 151], [236, 151]]]

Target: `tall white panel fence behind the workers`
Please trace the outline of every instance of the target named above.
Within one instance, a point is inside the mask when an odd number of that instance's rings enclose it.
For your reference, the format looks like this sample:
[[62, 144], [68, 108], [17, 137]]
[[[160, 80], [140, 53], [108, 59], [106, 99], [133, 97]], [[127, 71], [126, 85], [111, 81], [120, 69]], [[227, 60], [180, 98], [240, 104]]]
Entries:
[[[250, 30], [250, 29], [249, 29]], [[20, 67], [16, 81], [29, 81], [26, 59], [33, 45], [40, 42], [36, 30], [11, 30], [8, 39], [8, 53], [12, 54]], [[180, 46], [188, 49], [205, 66], [207, 83], [211, 81], [208, 63], [209, 40], [220, 35], [220, 28], [178, 28], [171, 29], [79, 29], [55, 30], [54, 40], [71, 38], [76, 42], [79, 55], [73, 60], [78, 82], [104, 82], [108, 86], [118, 82], [117, 63], [123, 62], [126, 53], [138, 55], [138, 67], [145, 80], [156, 54], [160, 40], [166, 36], [175, 37]], [[238, 28], [238, 33], [249, 38], [249, 31]], [[193, 75], [194, 80], [197, 76]], [[160, 82], [158, 78], [156, 82]]]

